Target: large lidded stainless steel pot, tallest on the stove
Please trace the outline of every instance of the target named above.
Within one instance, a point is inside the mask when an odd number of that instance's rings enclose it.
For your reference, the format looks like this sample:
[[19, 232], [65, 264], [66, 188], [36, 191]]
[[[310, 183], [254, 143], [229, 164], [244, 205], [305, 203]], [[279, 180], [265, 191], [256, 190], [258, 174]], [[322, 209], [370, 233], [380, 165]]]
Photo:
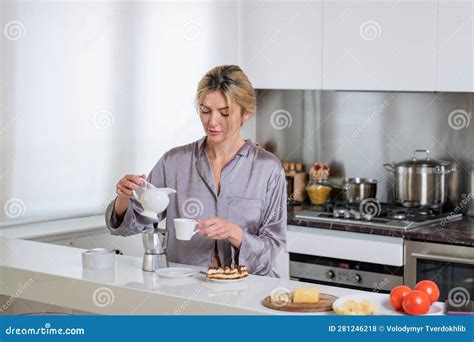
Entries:
[[[417, 153], [424, 153], [425, 157], [418, 159]], [[446, 176], [458, 167], [450, 162], [430, 159], [429, 153], [429, 150], [415, 150], [412, 159], [383, 164], [395, 175], [395, 202], [405, 207], [436, 207], [446, 203]]]

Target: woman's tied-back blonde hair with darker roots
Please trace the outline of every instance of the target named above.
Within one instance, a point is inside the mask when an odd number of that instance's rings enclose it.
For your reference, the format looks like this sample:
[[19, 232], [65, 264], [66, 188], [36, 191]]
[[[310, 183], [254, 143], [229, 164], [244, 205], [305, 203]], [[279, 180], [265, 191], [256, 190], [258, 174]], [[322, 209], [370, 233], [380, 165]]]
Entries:
[[[226, 98], [227, 104], [237, 104], [242, 108], [241, 115], [255, 114], [255, 90], [247, 75], [237, 65], [219, 65], [209, 70], [199, 81], [196, 104], [202, 102], [204, 96], [214, 91], [220, 91]], [[229, 108], [230, 109], [230, 108]]]

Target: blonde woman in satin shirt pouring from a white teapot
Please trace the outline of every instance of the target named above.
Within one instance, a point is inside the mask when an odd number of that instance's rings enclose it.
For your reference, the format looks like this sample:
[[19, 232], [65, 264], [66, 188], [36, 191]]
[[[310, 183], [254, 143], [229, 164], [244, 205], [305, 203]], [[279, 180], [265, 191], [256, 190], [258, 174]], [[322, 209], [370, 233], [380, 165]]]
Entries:
[[[240, 127], [255, 113], [255, 92], [235, 65], [218, 66], [199, 82], [196, 97], [206, 136], [166, 152], [147, 177], [177, 191], [167, 210], [168, 259], [198, 266], [239, 264], [249, 273], [276, 276], [275, 259], [286, 243], [286, 182], [280, 161], [243, 140]], [[125, 175], [116, 185], [106, 223], [113, 235], [149, 227], [132, 196], [144, 175]], [[173, 219], [198, 219], [190, 241], [176, 239]]]

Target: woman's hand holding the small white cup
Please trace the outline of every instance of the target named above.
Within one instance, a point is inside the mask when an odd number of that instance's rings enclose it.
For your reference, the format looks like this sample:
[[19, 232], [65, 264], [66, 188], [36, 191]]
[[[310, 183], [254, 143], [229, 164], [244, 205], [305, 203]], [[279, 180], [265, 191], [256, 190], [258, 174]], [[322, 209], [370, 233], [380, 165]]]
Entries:
[[209, 217], [206, 220], [198, 220], [198, 234], [214, 240], [229, 239], [235, 247], [242, 243], [242, 228], [224, 220], [220, 217]]

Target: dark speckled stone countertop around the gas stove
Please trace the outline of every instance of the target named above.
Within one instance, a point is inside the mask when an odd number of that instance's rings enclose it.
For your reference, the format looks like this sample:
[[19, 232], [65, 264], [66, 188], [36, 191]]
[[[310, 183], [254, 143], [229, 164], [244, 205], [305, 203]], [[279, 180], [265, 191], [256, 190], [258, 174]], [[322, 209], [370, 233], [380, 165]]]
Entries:
[[350, 225], [340, 223], [314, 222], [295, 218], [301, 210], [311, 208], [309, 204], [288, 206], [288, 224], [295, 226], [332, 229], [354, 233], [402, 237], [407, 240], [429, 241], [434, 243], [474, 247], [474, 217], [463, 216], [461, 220], [450, 222], [444, 227], [434, 223], [409, 230], [372, 227], [370, 225]]

